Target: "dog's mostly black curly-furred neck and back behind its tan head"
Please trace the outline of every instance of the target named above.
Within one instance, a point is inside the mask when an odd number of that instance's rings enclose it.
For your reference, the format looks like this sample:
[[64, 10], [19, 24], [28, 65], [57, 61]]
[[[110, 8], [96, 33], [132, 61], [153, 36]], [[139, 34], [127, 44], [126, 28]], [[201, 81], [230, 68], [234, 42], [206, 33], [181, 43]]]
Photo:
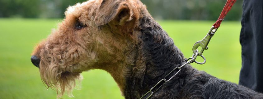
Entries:
[[[139, 99], [172, 69], [186, 62], [173, 40], [151, 16], [139, 21], [138, 57], [135, 65], [127, 68], [125, 99]], [[263, 99], [263, 95], [186, 65], [150, 99]]]

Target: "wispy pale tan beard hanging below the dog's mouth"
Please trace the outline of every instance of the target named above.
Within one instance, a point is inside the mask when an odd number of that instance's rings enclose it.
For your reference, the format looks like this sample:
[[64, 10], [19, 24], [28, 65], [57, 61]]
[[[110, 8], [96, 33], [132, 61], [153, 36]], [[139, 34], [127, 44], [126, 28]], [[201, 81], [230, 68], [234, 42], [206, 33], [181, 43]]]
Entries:
[[[42, 81], [51, 88], [57, 91], [58, 98], [67, 92], [69, 97], [73, 97], [72, 90], [77, 85], [80, 88], [80, 82], [83, 77], [81, 72], [64, 72], [59, 68], [58, 64], [51, 62], [46, 65], [45, 62], [40, 62], [40, 76]], [[78, 81], [76, 83], [76, 81]]]

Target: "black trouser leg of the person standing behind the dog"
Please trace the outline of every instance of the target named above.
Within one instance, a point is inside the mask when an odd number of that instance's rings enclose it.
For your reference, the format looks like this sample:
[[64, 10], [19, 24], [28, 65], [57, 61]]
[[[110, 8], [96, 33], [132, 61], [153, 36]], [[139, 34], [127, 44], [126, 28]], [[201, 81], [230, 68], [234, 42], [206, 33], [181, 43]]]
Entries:
[[244, 0], [239, 84], [263, 92], [263, 0]]

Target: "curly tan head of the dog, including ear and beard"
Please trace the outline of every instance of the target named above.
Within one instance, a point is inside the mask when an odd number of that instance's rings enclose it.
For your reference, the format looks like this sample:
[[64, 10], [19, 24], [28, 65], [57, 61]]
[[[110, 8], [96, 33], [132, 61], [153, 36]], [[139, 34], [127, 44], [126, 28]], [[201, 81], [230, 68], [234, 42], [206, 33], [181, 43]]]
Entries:
[[43, 82], [61, 91], [75, 87], [81, 72], [110, 69], [136, 42], [139, 0], [90, 0], [68, 7], [58, 29], [39, 43], [32, 53], [32, 63], [40, 69]]

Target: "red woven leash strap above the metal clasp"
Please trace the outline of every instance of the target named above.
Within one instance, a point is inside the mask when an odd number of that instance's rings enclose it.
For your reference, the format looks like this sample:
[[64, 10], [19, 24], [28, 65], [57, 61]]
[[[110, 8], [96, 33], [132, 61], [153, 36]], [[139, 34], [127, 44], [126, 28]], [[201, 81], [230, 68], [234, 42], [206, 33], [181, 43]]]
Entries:
[[214, 28], [218, 28], [220, 27], [221, 22], [224, 20], [225, 16], [228, 14], [229, 10], [232, 8], [232, 6], [234, 5], [234, 3], [237, 0], [228, 0], [226, 5], [224, 6], [219, 18], [217, 19], [217, 21], [214, 23]]

